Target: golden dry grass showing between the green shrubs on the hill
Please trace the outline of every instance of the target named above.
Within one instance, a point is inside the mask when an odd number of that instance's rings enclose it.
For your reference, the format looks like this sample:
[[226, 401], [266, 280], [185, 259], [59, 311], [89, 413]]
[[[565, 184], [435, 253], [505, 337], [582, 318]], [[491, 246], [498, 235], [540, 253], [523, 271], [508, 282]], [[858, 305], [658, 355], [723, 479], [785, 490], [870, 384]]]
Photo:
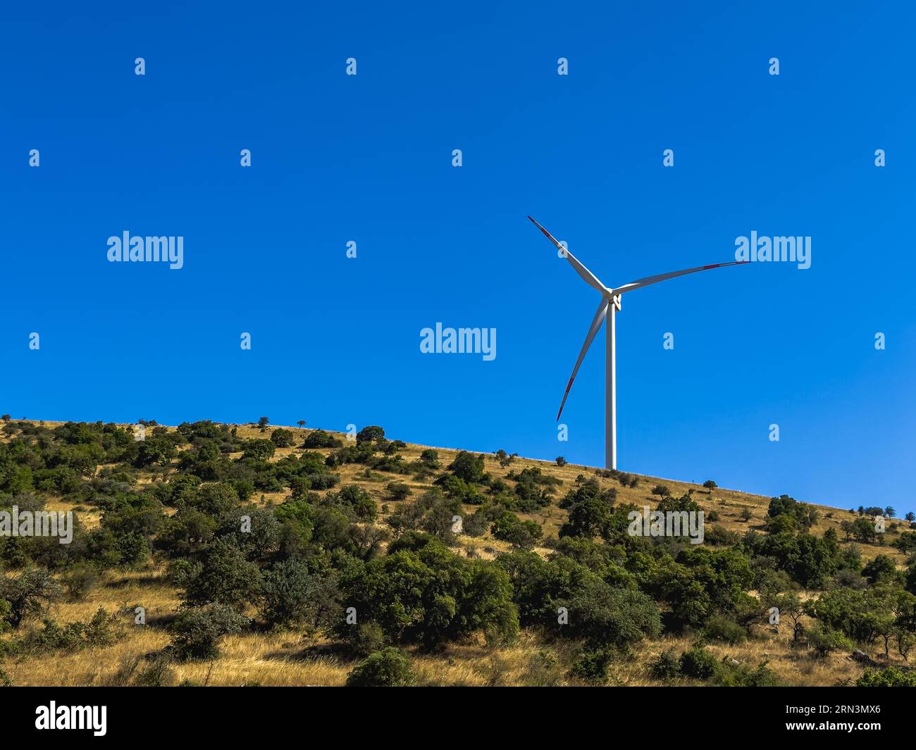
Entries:
[[[21, 423], [20, 423], [21, 424]], [[55, 429], [60, 422], [27, 422], [34, 427]], [[123, 426], [132, 429], [132, 426]], [[255, 425], [234, 425], [240, 440], [263, 440], [270, 436], [275, 426], [267, 431]], [[328, 456], [336, 448], [304, 449], [301, 447], [311, 427], [289, 427], [295, 435], [293, 446], [278, 448], [269, 462], [279, 462], [288, 456], [300, 456], [303, 452], [319, 452]], [[174, 428], [168, 428], [173, 432]], [[333, 433], [332, 433], [333, 434]], [[16, 440], [18, 432], [10, 429], [0, 438], [6, 443]], [[349, 445], [346, 436], [335, 434], [335, 438]], [[497, 446], [495, 446], [496, 448]], [[184, 446], [187, 448], [187, 446]], [[408, 443], [398, 449], [404, 462], [418, 461], [427, 446]], [[507, 446], [507, 448], [509, 448]], [[181, 450], [181, 448], [180, 448]], [[439, 462], [447, 467], [458, 455], [457, 450], [436, 448]], [[234, 451], [227, 455], [236, 460], [242, 455]], [[135, 491], [144, 487], [169, 482], [179, 472], [179, 455], [167, 465], [144, 467], [136, 472]], [[114, 464], [101, 463], [98, 472], [105, 468], [114, 469]], [[554, 499], [550, 505], [533, 513], [518, 512], [523, 520], [534, 521], [542, 529], [542, 538], [557, 538], [562, 524], [567, 520], [567, 511], [558, 506], [559, 500], [583, 477], [594, 479], [603, 489], [616, 490], [617, 505], [658, 505], [659, 497], [651, 495], [651, 489], [658, 485], [667, 485], [671, 495], [680, 496], [692, 493], [706, 514], [707, 534], [712, 527], [721, 527], [727, 532], [744, 535], [749, 529], [766, 534], [765, 522], [768, 516], [769, 497], [751, 495], [733, 489], [715, 488], [706, 490], [702, 485], [690, 484], [660, 477], [638, 476], [636, 486], [625, 486], [613, 477], [596, 473], [594, 467], [566, 464], [558, 466], [555, 462], [540, 462], [517, 457], [506, 466], [500, 465], [494, 454], [485, 456], [485, 472], [493, 479], [501, 479], [509, 486], [513, 484], [510, 473], [520, 472], [525, 468], [538, 468], [540, 472], [560, 480], [562, 484], [554, 488]], [[340, 475], [340, 485], [355, 484], [365, 489], [376, 501], [379, 515], [371, 522], [379, 529], [387, 529], [387, 518], [398, 510], [403, 503], [409, 503], [417, 496], [431, 491], [440, 470], [428, 477], [417, 479], [411, 474], [397, 474], [375, 471], [360, 463], [344, 463], [333, 468]], [[410, 497], [397, 501], [391, 498], [387, 485], [393, 481], [409, 485]], [[324, 490], [322, 495], [333, 490]], [[791, 488], [787, 488], [791, 492]], [[74, 511], [87, 529], [98, 528], [104, 510], [95, 505], [75, 503], [71, 499], [56, 494], [45, 493], [48, 510]], [[254, 505], [274, 507], [289, 498], [290, 491], [284, 487], [280, 491], [256, 491], [250, 498]], [[869, 505], [868, 503], [866, 505]], [[817, 520], [809, 533], [822, 537], [827, 529], [833, 528], [839, 538], [845, 535], [841, 529], [843, 521], [853, 521], [857, 514], [849, 509], [817, 505]], [[470, 516], [477, 509], [476, 505], [463, 505], [464, 513]], [[747, 513], [749, 517], [746, 520]], [[175, 508], [165, 507], [163, 513], [174, 514]], [[708, 518], [717, 516], [714, 522]], [[713, 516], [713, 517], [715, 517]], [[878, 555], [891, 558], [902, 571], [906, 556], [899, 549], [890, 546], [890, 542], [909, 528], [902, 521], [891, 521], [887, 533], [881, 538], [883, 544], [858, 544], [863, 561], [873, 560]], [[388, 542], [382, 543], [382, 548]], [[847, 546], [848, 542], [842, 542]], [[472, 537], [459, 534], [451, 548], [453, 554], [469, 560], [495, 560], [502, 553], [510, 551], [511, 545], [492, 537], [487, 531], [483, 536]], [[553, 552], [550, 543], [537, 545], [534, 551], [543, 558]], [[16, 569], [6, 566], [7, 577], [16, 574]], [[56, 571], [60, 577], [66, 571]], [[121, 636], [107, 647], [86, 647], [71, 652], [49, 651], [47, 653], [18, 653], [7, 656], [0, 661], [15, 685], [105, 685], [131, 684], [136, 682], [145, 665], [148, 666], [149, 655], [167, 647], [170, 641], [169, 623], [180, 611], [180, 588], [169, 583], [163, 560], [149, 557], [136, 570], [114, 569], [103, 571], [93, 580], [88, 592], [72, 601], [60, 599], [49, 603], [46, 616], [54, 621], [71, 623], [86, 621], [103, 607], [108, 612], [118, 613], [122, 621]], [[755, 592], [751, 591], [751, 594]], [[810, 598], [815, 592], [800, 592], [802, 599]], [[147, 625], [133, 625], [133, 611], [137, 605], [146, 609]], [[802, 617], [802, 623], [812, 625], [811, 618]], [[24, 627], [38, 628], [37, 621]], [[628, 654], [612, 660], [608, 668], [608, 684], [611, 685], [658, 685], [658, 679], [650, 674], [649, 664], [658, 658], [662, 651], [674, 649], [676, 653], [690, 648], [699, 633], [688, 629], [680, 633], [669, 633], [655, 638], [646, 638], [629, 649]], [[14, 633], [6, 633], [3, 641], [11, 643]], [[863, 673], [861, 664], [849, 658], [848, 649], [834, 651], [825, 658], [817, 658], [812, 650], [799, 644], [793, 644], [791, 621], [785, 619], [780, 627], [771, 627], [761, 620], [751, 628], [751, 637], [744, 643], [728, 645], [722, 642], [710, 642], [707, 645], [716, 658], [732, 658], [747, 668], [756, 668], [758, 663], [767, 662], [776, 678], [787, 685], [834, 685], [854, 682]], [[582, 680], [571, 674], [570, 668], [576, 657], [578, 646], [572, 642], [553, 639], [545, 636], [537, 628], [523, 628], [518, 638], [502, 646], [489, 646], [485, 638], [474, 636], [463, 638], [447, 644], [440, 650], [421, 649], [407, 645], [404, 649], [410, 654], [416, 681], [419, 684], [431, 685], [564, 685], [582, 684]], [[208, 685], [343, 685], [348, 673], [358, 662], [358, 658], [348, 657], [339, 648], [334, 647], [332, 639], [321, 630], [309, 627], [267, 628], [252, 627], [236, 635], [224, 636], [220, 644], [219, 658], [203, 661], [175, 662], [165, 669], [165, 684], [191, 682]], [[870, 655], [875, 657], [878, 648], [874, 644]], [[893, 650], [887, 660], [890, 665], [906, 666], [906, 661], [895, 655]], [[675, 684], [701, 684], [699, 680], [678, 677]]]

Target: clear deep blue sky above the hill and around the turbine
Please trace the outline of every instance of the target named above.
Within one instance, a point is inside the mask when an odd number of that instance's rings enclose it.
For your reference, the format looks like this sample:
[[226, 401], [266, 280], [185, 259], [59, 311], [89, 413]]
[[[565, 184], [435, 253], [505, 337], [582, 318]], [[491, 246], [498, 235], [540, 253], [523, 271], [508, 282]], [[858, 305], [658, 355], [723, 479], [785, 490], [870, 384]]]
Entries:
[[[5, 8], [0, 411], [599, 465], [603, 333], [554, 421], [597, 294], [526, 214], [608, 285], [810, 235], [624, 299], [620, 468], [916, 507], [911, 5], [336, 5]], [[108, 263], [125, 230], [184, 267]], [[436, 321], [496, 359], [421, 354]]]

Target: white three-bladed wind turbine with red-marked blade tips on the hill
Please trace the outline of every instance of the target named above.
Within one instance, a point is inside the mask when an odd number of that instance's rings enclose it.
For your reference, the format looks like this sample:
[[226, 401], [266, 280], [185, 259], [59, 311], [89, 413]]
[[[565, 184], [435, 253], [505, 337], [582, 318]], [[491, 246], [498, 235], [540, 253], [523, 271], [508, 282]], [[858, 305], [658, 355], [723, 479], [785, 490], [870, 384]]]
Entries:
[[[617, 394], [616, 394], [616, 313], [620, 311], [620, 295], [628, 291], [633, 291], [634, 289], [639, 289], [643, 287], [648, 287], [649, 284], [655, 284], [659, 281], [665, 281], [669, 278], [674, 278], [678, 276], [684, 276], [685, 274], [692, 274], [697, 271], [707, 271], [710, 268], [722, 268], [724, 266], [742, 266], [745, 263], [749, 263], [747, 260], [736, 260], [731, 263], [714, 263], [712, 266], [697, 266], [695, 268], [686, 268], [683, 271], [671, 271], [669, 274], [659, 274], [658, 276], [647, 276], [645, 278], [638, 278], [636, 281], [631, 281], [629, 284], [624, 284], [622, 287], [617, 288], [607, 288], [602, 284], [594, 274], [583, 266], [578, 260], [573, 257], [573, 254], [570, 253], [563, 245], [557, 242], [550, 232], [548, 232], [544, 227], [539, 223], [528, 217], [541, 232], [544, 233], [544, 236], [549, 239], [553, 245], [556, 245], [557, 249], [561, 251], [563, 257], [565, 257], [570, 265], [575, 268], [575, 272], [583, 278], [583, 281], [588, 284], [591, 288], [594, 288], [596, 291], [601, 293], [601, 302], [598, 304], [598, 310], [594, 313], [594, 318], [592, 319], [592, 325], [588, 329], [588, 335], [585, 336], [585, 342], [582, 345], [582, 351], [579, 353], [579, 359], [575, 361], [575, 366], [573, 367], [573, 375], [570, 375], [570, 382], [566, 384], [566, 391], [563, 393], [563, 400], [560, 403], [560, 411], [557, 412], [557, 421], [560, 421], [560, 415], [563, 413], [563, 406], [566, 404], [566, 397], [570, 395], [570, 388], [573, 387], [573, 380], [575, 380], [576, 373], [579, 372], [579, 365], [582, 364], [582, 361], [585, 357], [585, 353], [588, 351], [588, 347], [592, 345], [594, 337], [598, 334], [598, 331], [601, 329], [601, 324], [607, 318], [607, 343], [605, 349], [605, 467], [607, 469], [616, 469], [617, 468]], [[610, 316], [608, 316], [608, 310], [610, 310]]]

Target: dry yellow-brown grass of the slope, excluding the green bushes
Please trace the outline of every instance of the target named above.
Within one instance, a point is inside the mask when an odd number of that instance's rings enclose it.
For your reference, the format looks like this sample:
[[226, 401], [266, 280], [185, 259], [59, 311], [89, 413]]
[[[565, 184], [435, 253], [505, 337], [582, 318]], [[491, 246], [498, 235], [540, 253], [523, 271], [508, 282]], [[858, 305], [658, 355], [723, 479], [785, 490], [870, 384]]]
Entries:
[[[49, 428], [60, 422], [38, 422]], [[253, 425], [238, 425], [241, 437], [265, 438]], [[289, 427], [297, 433], [297, 442], [311, 428], [300, 429]], [[338, 437], [344, 437], [338, 435]], [[420, 451], [429, 446], [408, 444], [399, 451], [408, 462], [419, 458]], [[300, 448], [278, 449], [273, 461], [293, 453], [300, 453]], [[314, 449], [310, 449], [314, 450]], [[458, 453], [456, 450], [437, 448], [442, 465], [452, 462]], [[328, 454], [330, 450], [319, 451]], [[234, 454], [237, 458], [240, 454]], [[541, 462], [517, 458], [507, 468], [501, 468], [492, 454], [487, 458], [486, 471], [495, 477], [505, 478], [509, 471], [519, 471], [528, 466], [538, 466], [545, 473], [562, 479], [560, 492], [564, 493], [573, 486], [576, 476], [584, 474], [594, 476], [594, 467], [567, 464], [557, 466], [553, 462]], [[387, 499], [385, 486], [397, 480], [409, 484], [417, 495], [431, 487], [431, 484], [412, 481], [409, 476], [393, 476], [385, 473], [366, 473], [358, 464], [347, 464], [334, 469], [341, 474], [341, 484], [360, 484], [376, 499], [379, 507], [387, 504], [388, 512], [397, 507], [397, 503]], [[168, 481], [169, 471], [149, 473], [142, 482]], [[649, 503], [649, 491], [655, 484], [667, 484], [674, 495], [682, 495], [688, 489], [694, 491], [696, 499], [706, 512], [716, 511], [719, 515], [717, 525], [730, 531], [744, 532], [747, 528], [762, 530], [767, 516], [769, 497], [751, 495], [729, 489], [715, 489], [707, 492], [699, 484], [690, 484], [678, 480], [660, 477], [640, 476], [636, 488], [621, 487], [616, 480], [601, 478], [603, 486], [613, 486], [617, 490], [618, 503]], [[262, 504], [277, 504], [283, 501], [287, 493], [271, 493], [258, 498]], [[654, 506], [657, 498], [653, 498]], [[871, 502], [863, 502], [872, 505]], [[72, 506], [52, 499], [49, 509], [71, 510]], [[745, 522], [741, 511], [747, 507], [752, 516]], [[827, 505], [818, 506], [820, 518], [812, 528], [812, 533], [822, 535], [827, 528], [835, 528], [840, 538], [840, 522], [853, 520], [856, 514], [849, 510], [838, 509]], [[474, 506], [467, 506], [469, 513]], [[79, 511], [82, 520], [89, 526], [98, 524], [98, 513], [93, 509]], [[565, 520], [565, 512], [551, 505], [534, 515], [521, 515], [534, 520], [544, 528], [545, 536], [556, 536]], [[380, 519], [379, 523], [382, 520]], [[889, 533], [893, 534], [891, 527]], [[900, 565], [904, 555], [887, 545], [859, 545], [863, 560], [870, 560], [878, 554], [894, 558]], [[500, 550], [508, 549], [505, 542], [493, 538], [459, 538], [459, 553], [479, 555], [492, 558]], [[547, 554], [548, 549], [537, 549], [540, 554]], [[147, 626], [133, 625], [133, 607], [141, 604], [147, 609]], [[79, 603], [57, 603], [52, 605], [50, 614], [60, 622], [85, 620], [99, 608], [109, 612], [123, 613], [125, 637], [114, 646], [107, 648], [89, 648], [72, 654], [49, 654], [42, 657], [23, 658], [19, 661], [8, 661], [5, 669], [15, 685], [106, 685], [116, 682], [119, 670], [129, 665], [132, 659], [143, 658], [169, 643], [169, 635], [162, 627], [164, 622], [174, 615], [180, 606], [178, 592], [171, 588], [163, 578], [163, 571], [152, 567], [146, 571], [132, 571], [108, 574]], [[719, 657], [736, 658], [742, 664], [754, 668], [760, 661], [769, 661], [771, 668], [784, 683], [797, 686], [834, 685], [845, 680], [855, 680], [862, 674], [862, 667], [843, 654], [833, 654], [828, 658], [811, 657], [808, 649], [797, 649], [791, 645], [791, 623], [783, 623], [779, 632], [770, 632], [764, 626], [758, 627], [757, 637], [740, 646], [712, 646], [710, 650]], [[8, 637], [8, 636], [7, 636]], [[610, 668], [611, 685], [657, 685], [657, 680], [649, 677], [649, 662], [666, 648], [675, 648], [678, 652], [690, 647], [690, 638], [664, 637], [657, 641], [647, 641], [635, 649], [634, 658], [617, 662]], [[207, 685], [343, 685], [347, 673], [353, 668], [353, 662], [322, 654], [321, 637], [307, 635], [296, 631], [276, 633], [245, 633], [239, 636], [227, 636], [221, 646], [222, 656], [213, 662], [174, 665], [172, 682], [179, 684], [190, 680], [195, 684]], [[559, 654], [557, 658], [545, 653], [539, 638], [532, 633], [523, 633], [518, 642], [511, 647], [490, 648], [481, 638], [478, 642], [453, 645], [440, 654], [414, 653], [420, 684], [434, 685], [565, 685], [574, 682], [569, 678], [568, 666], [573, 655], [565, 653], [563, 647], [551, 644], [551, 652]], [[890, 665], [904, 664], [900, 658], [891, 656]], [[692, 680], [682, 679], [682, 684]]]

